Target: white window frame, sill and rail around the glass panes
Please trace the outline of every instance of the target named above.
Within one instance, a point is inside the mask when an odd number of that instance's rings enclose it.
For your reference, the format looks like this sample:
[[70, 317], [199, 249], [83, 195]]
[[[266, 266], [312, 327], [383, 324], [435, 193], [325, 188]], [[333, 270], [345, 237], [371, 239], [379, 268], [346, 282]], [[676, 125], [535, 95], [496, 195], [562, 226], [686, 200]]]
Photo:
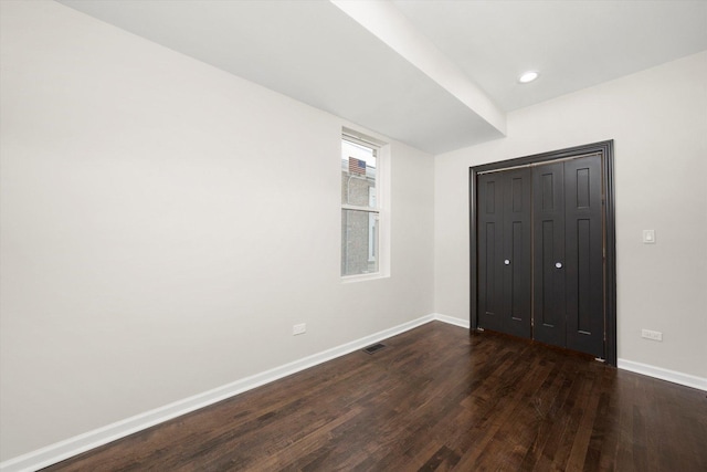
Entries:
[[[376, 197], [374, 206], [359, 207], [356, 204], [341, 203], [341, 210], [357, 210], [378, 216], [378, 244], [376, 252], [378, 256], [378, 272], [356, 275], [342, 275], [341, 282], [361, 282], [390, 276], [390, 145], [380, 139], [366, 136], [354, 129], [344, 128], [341, 140], [348, 140], [376, 149]], [[369, 200], [370, 201], [370, 200]], [[342, 212], [341, 212], [342, 213]], [[370, 250], [370, 247], [369, 247]], [[369, 252], [369, 258], [372, 253]], [[344, 254], [339, 254], [339, 261]]]

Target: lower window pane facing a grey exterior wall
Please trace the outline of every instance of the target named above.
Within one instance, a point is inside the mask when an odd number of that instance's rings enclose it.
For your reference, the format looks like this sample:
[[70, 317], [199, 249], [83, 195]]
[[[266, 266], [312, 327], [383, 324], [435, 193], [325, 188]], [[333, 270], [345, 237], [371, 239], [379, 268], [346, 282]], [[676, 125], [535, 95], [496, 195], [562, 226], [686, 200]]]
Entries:
[[341, 210], [341, 275], [378, 272], [378, 213]]

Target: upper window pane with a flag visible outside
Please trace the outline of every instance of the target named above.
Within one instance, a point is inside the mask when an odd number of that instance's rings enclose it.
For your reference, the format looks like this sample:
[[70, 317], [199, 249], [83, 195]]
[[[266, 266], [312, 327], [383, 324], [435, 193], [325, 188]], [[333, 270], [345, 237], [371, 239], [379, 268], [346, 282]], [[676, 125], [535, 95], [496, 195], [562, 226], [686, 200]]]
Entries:
[[376, 208], [376, 149], [341, 140], [341, 203]]

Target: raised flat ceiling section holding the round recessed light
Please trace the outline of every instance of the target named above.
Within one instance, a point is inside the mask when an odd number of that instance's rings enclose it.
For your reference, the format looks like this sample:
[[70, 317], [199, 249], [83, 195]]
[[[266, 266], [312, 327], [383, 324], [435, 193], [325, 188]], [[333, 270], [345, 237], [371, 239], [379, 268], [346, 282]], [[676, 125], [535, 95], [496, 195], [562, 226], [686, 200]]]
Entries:
[[[707, 1], [395, 1], [505, 111], [707, 49]], [[540, 78], [520, 85], [528, 70]]]

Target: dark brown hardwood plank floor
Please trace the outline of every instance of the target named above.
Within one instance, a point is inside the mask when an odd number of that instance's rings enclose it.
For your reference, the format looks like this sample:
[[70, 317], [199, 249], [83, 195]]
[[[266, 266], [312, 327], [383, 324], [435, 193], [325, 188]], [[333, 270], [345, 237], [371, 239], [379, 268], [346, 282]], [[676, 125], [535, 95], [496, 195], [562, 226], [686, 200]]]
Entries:
[[48, 471], [707, 471], [706, 392], [433, 322]]

